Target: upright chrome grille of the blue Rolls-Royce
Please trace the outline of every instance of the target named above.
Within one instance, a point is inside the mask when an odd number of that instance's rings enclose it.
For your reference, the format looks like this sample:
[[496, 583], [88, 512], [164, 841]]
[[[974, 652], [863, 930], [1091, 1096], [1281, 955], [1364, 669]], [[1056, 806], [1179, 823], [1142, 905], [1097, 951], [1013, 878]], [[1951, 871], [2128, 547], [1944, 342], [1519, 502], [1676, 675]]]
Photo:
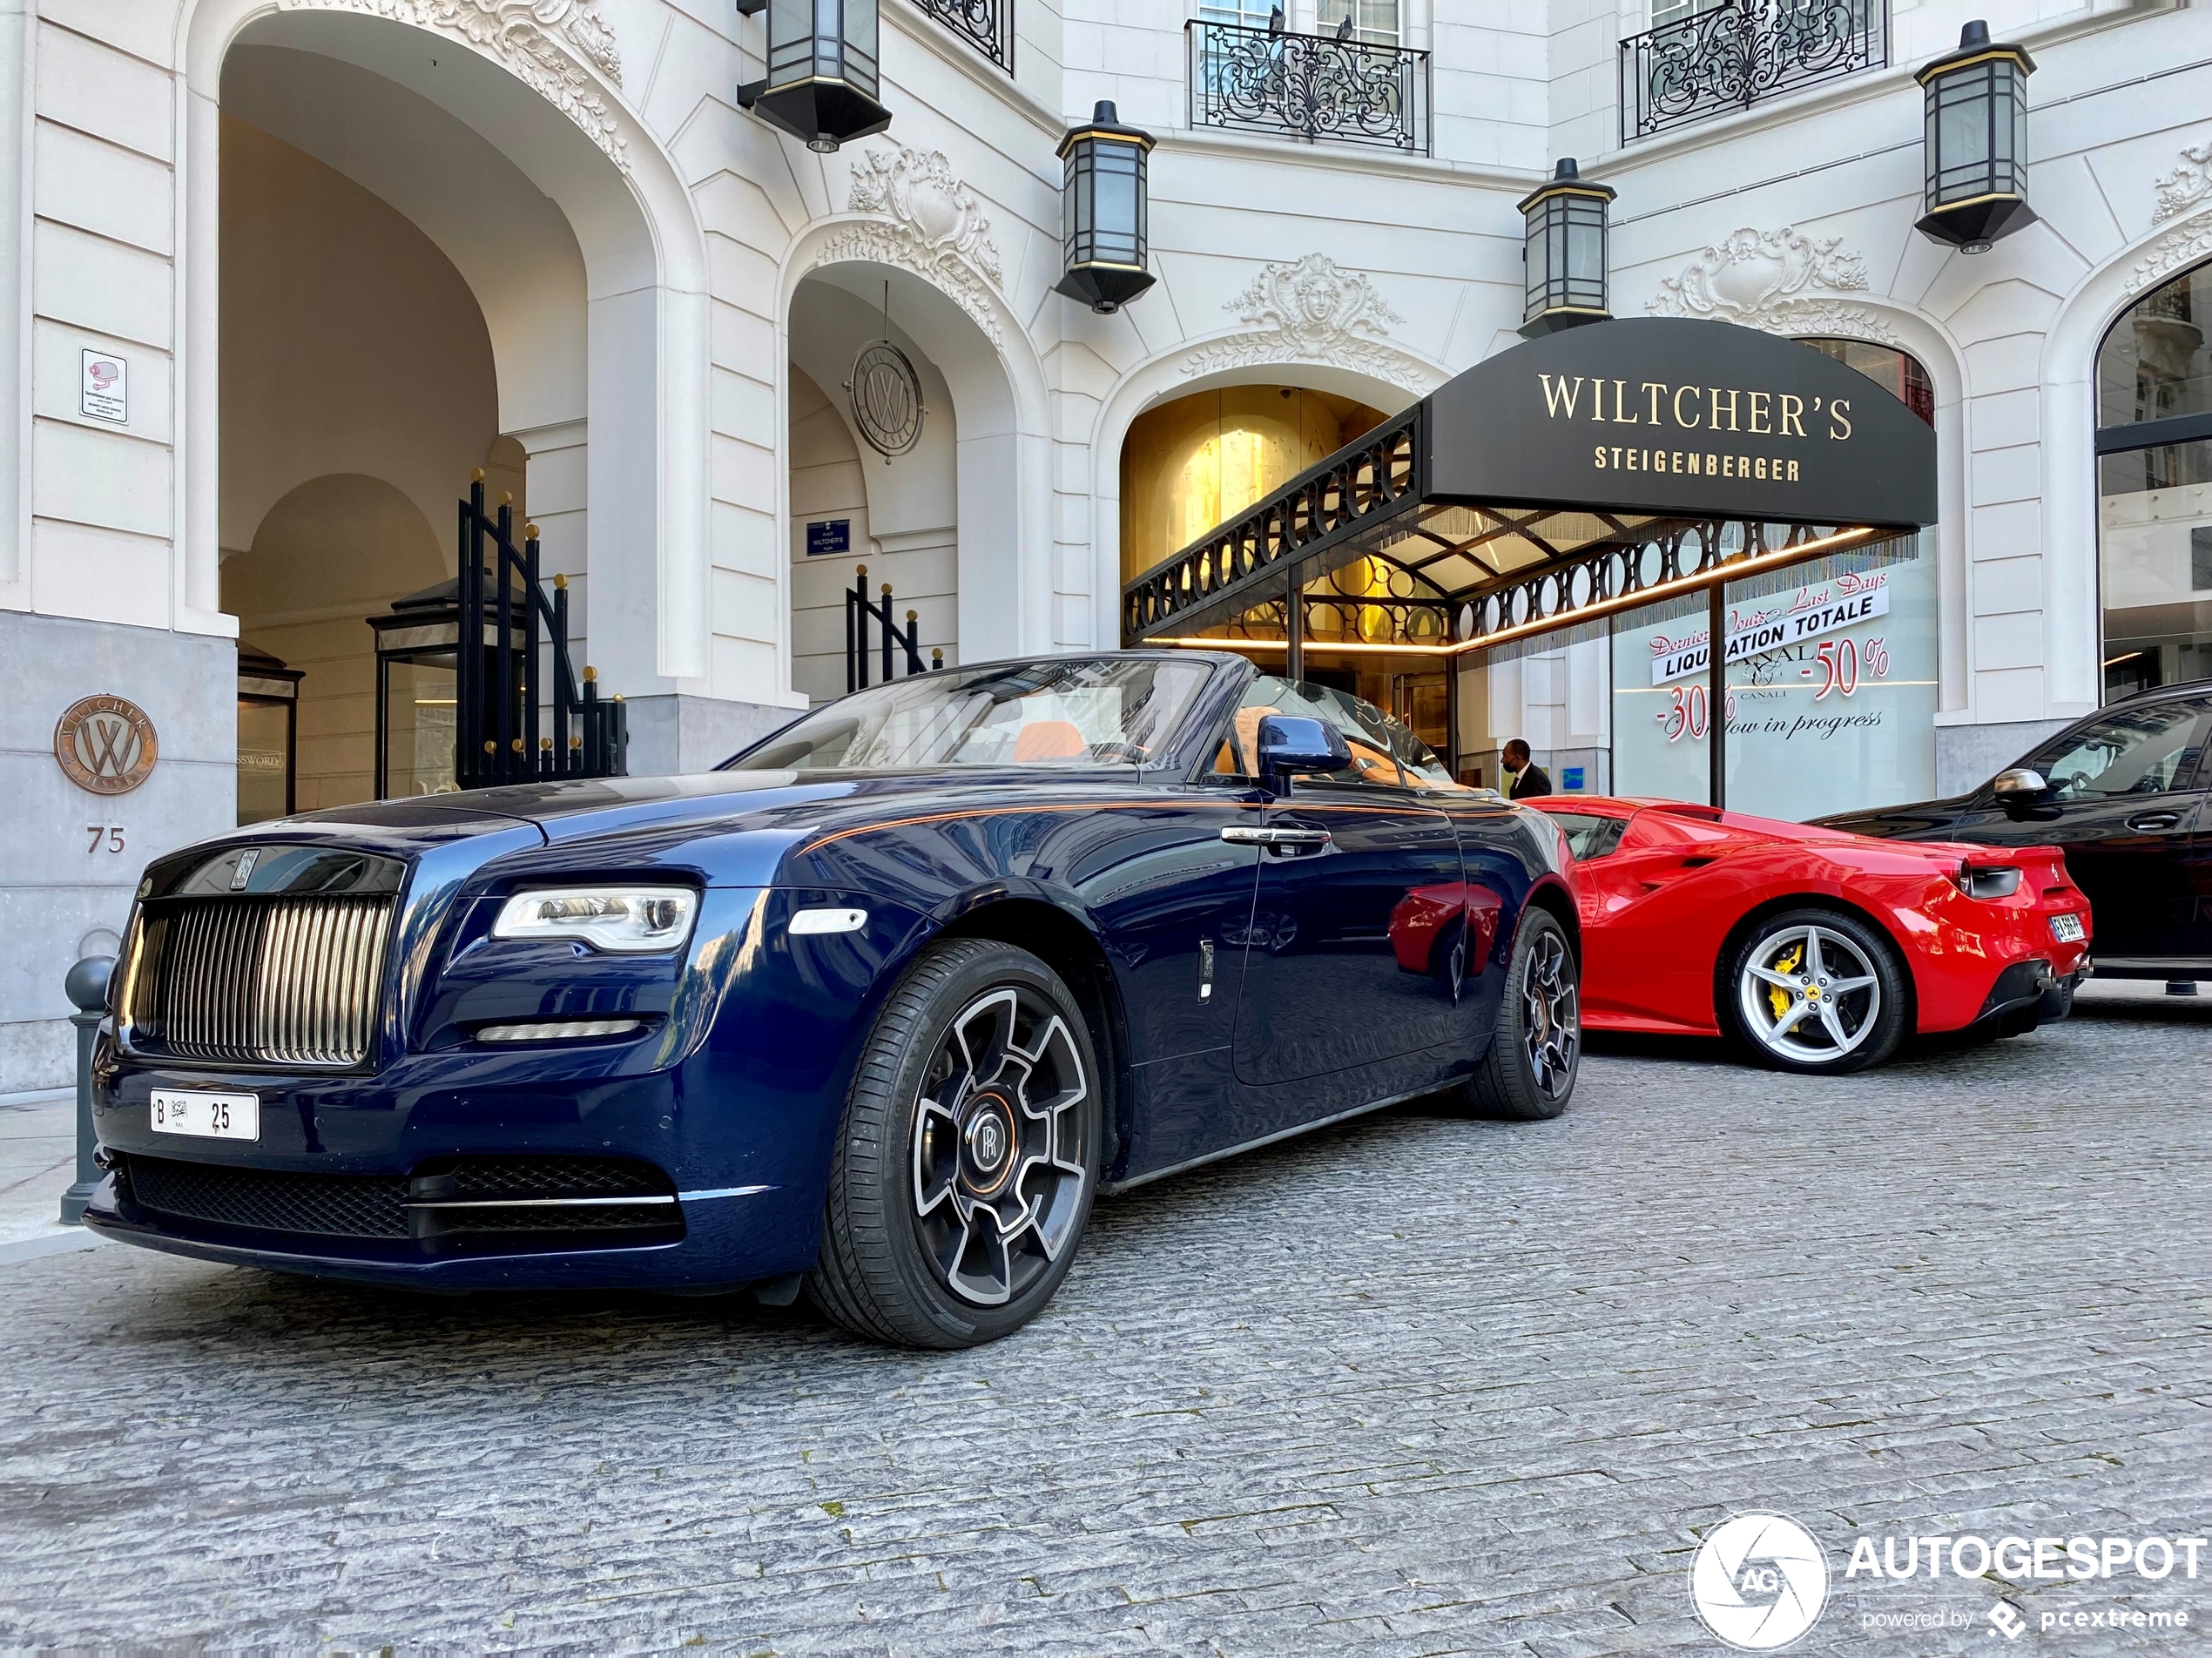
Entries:
[[389, 893], [148, 904], [122, 1015], [177, 1059], [358, 1066], [383, 1006]]

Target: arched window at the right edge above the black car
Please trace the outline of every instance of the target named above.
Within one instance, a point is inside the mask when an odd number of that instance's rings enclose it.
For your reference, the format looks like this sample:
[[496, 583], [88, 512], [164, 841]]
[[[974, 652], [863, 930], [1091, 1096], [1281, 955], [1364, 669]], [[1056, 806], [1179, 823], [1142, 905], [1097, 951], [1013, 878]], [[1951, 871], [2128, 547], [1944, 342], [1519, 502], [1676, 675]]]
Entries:
[[2212, 676], [2212, 263], [2097, 347], [2104, 696]]

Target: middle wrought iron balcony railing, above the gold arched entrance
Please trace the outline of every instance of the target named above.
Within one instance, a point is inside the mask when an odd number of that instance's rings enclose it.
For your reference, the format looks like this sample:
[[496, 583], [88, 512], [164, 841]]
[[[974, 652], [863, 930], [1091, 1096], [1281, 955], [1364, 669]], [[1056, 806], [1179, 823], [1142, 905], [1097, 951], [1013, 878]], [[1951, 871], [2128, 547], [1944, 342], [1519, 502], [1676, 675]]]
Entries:
[[1186, 22], [1190, 124], [1429, 153], [1429, 53]]

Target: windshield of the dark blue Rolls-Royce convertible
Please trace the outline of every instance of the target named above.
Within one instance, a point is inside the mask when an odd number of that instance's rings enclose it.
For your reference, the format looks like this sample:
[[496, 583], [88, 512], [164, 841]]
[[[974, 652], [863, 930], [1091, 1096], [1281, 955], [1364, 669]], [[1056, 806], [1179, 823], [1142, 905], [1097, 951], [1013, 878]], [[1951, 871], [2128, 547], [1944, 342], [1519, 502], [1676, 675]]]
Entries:
[[896, 679], [807, 714], [723, 769], [1148, 765], [1212, 672], [1206, 661], [1068, 657]]

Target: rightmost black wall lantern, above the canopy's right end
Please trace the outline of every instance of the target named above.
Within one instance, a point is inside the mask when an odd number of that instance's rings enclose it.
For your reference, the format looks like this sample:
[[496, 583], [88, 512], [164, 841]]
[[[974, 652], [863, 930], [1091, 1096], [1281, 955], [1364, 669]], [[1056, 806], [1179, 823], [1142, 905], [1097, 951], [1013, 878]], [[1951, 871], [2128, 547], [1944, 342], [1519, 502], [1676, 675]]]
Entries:
[[1918, 73], [1927, 88], [1927, 217], [1920, 234], [1966, 254], [2035, 223], [2028, 206], [2028, 75], [2024, 46], [1991, 44], [1986, 22]]

